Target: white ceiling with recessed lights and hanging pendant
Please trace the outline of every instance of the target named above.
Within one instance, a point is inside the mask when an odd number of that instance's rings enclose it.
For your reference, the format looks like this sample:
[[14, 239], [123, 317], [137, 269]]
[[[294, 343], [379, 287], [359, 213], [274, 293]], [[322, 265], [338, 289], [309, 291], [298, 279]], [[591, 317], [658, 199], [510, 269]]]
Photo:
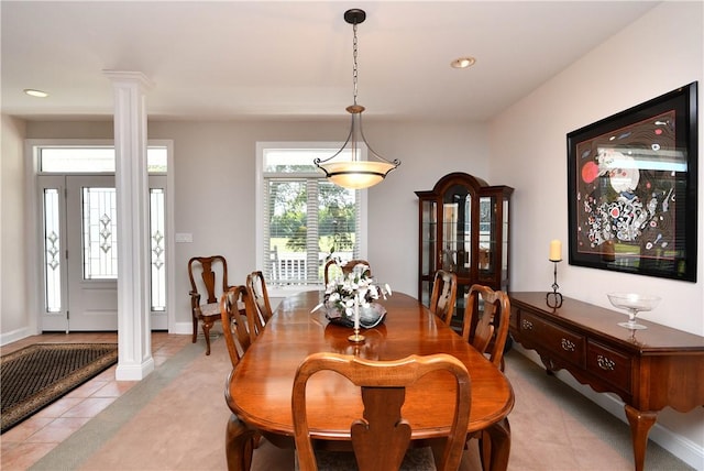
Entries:
[[[2, 112], [109, 119], [103, 70], [141, 72], [150, 117], [486, 120], [657, 6], [645, 1], [7, 1]], [[459, 56], [476, 57], [453, 69]], [[608, 70], [605, 70], [608, 73]], [[38, 99], [25, 88], [51, 94]]]

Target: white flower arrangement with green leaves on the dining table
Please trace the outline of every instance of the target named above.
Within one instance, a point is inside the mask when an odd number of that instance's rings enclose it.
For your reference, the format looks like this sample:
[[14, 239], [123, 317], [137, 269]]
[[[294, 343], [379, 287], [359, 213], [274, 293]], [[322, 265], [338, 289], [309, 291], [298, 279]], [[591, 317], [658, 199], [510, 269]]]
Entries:
[[[341, 266], [339, 259], [336, 259], [336, 263]], [[314, 310], [324, 307], [331, 322], [369, 329], [382, 324], [386, 315], [384, 306], [374, 300], [386, 299], [391, 295], [388, 284], [384, 287], [376, 285], [370, 267], [359, 264], [352, 272], [328, 283], [323, 303]]]

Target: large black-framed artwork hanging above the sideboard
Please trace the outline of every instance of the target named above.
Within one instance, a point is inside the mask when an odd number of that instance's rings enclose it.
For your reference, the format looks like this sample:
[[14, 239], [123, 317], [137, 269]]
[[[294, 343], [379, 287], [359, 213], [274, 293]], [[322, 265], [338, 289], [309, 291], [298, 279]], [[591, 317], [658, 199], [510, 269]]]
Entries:
[[696, 91], [566, 135], [571, 265], [696, 282]]

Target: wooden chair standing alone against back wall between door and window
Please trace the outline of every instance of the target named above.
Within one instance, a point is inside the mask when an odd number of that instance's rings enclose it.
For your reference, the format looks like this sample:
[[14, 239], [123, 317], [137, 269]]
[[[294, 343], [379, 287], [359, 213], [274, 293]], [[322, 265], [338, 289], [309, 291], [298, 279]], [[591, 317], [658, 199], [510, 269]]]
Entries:
[[[197, 276], [200, 275], [200, 276]], [[219, 299], [228, 291], [228, 262], [222, 255], [194, 256], [188, 261], [190, 311], [194, 322], [193, 343], [198, 336], [198, 322], [206, 337], [206, 354], [210, 354], [210, 329], [221, 319]], [[217, 281], [220, 283], [217, 283]], [[205, 299], [205, 303], [202, 300]]]

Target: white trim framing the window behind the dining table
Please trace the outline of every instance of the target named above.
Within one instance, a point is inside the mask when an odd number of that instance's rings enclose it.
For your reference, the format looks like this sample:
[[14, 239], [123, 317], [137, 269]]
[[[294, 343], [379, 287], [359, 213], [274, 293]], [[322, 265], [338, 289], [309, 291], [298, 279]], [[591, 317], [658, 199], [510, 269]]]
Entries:
[[[262, 270], [264, 266], [264, 224], [261, 218], [264, 216], [264, 150], [265, 149], [334, 149], [342, 147], [343, 142], [301, 142], [301, 141], [264, 141], [256, 143], [256, 183], [254, 185], [256, 191], [256, 223], [254, 224], [254, 240], [256, 241], [256, 270]], [[332, 154], [331, 154], [332, 155]], [[366, 160], [366, 149], [362, 150], [362, 160]], [[366, 189], [360, 190], [360, 258], [366, 259], [367, 251], [367, 191]], [[266, 287], [270, 297], [282, 298], [290, 296], [301, 291], [315, 291], [319, 289], [315, 286], [268, 286]]]

